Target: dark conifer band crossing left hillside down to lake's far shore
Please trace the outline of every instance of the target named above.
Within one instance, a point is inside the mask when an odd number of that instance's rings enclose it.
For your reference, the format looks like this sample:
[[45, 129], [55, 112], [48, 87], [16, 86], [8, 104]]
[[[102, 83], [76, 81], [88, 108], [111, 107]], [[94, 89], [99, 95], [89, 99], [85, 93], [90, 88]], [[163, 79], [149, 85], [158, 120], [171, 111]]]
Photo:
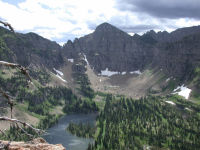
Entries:
[[[38, 73], [38, 74], [37, 74]], [[44, 70], [31, 71], [35, 78], [42, 76], [40, 81], [48, 82], [48, 74]], [[95, 112], [98, 107], [92, 100], [78, 99], [70, 89], [65, 87], [39, 87], [34, 91], [27, 88], [27, 82], [23, 75], [15, 72], [11, 78], [3, 78], [0, 74], [0, 86], [10, 95], [16, 97], [17, 102], [27, 102], [28, 111], [40, 115], [47, 115], [49, 111], [58, 105], [64, 105], [64, 112]]]

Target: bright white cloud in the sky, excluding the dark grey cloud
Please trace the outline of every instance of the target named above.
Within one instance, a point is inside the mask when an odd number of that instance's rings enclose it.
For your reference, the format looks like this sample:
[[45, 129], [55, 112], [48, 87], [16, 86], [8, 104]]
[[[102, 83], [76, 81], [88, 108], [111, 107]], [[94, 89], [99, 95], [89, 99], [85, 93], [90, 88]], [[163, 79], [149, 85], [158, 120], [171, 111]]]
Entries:
[[[164, 19], [141, 12], [122, 11], [116, 0], [25, 0], [18, 4], [0, 0], [0, 19], [19, 32], [36, 32], [59, 43], [93, 32], [94, 27], [109, 22], [118, 27], [153, 25], [158, 30], [200, 24], [191, 19]], [[14, 2], [13, 2], [14, 3]], [[173, 26], [172, 26], [173, 25]], [[144, 30], [143, 32], [145, 32]], [[143, 33], [142, 32], [142, 33]]]

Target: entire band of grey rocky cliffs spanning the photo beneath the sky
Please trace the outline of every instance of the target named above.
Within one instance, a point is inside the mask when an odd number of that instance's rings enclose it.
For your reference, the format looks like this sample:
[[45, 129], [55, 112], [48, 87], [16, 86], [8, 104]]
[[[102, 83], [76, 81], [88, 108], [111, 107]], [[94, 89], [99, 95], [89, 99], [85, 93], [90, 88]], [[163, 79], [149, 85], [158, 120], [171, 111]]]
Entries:
[[79, 59], [85, 54], [96, 73], [106, 68], [130, 72], [153, 66], [163, 69], [169, 76], [183, 79], [188, 78], [199, 65], [199, 35], [200, 26], [172, 33], [151, 30], [142, 36], [130, 36], [103, 23], [93, 33], [68, 41], [61, 48], [34, 33], [14, 35], [0, 28], [0, 49], [4, 47], [4, 55], [0, 58], [12, 55], [13, 61], [22, 65], [37, 64], [52, 69], [62, 66], [65, 58]]

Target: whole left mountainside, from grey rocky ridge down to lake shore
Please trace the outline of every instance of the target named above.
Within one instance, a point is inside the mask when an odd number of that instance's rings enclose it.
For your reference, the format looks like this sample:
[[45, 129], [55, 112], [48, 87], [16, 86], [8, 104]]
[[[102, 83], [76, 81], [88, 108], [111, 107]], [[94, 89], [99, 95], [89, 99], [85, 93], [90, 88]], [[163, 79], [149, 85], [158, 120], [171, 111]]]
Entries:
[[[13, 117], [46, 129], [64, 113], [96, 112], [98, 108], [92, 98], [76, 96], [69, 88], [73, 84], [71, 63], [64, 61], [61, 47], [35, 33], [12, 33], [0, 28], [0, 59], [27, 67], [33, 80], [28, 85], [19, 70], [0, 66], [0, 87], [17, 105]], [[61, 70], [62, 68], [62, 70]], [[63, 72], [62, 72], [63, 71]], [[0, 96], [0, 114], [10, 117], [6, 99]], [[20, 115], [20, 114], [21, 115]], [[34, 121], [35, 120], [35, 121]], [[1, 123], [0, 129], [9, 129], [9, 123]], [[11, 140], [28, 140], [18, 130], [10, 129]], [[1, 139], [8, 139], [0, 135]]]

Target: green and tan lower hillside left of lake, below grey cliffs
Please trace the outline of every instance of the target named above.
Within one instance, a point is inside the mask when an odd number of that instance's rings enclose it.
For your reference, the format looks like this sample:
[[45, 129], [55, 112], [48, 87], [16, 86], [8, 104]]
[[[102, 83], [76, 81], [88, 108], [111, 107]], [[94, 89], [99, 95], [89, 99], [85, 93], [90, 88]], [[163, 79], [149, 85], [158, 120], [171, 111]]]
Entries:
[[[98, 111], [92, 99], [77, 97], [72, 90], [66, 86], [49, 86], [49, 82], [55, 79], [53, 79], [54, 76], [52, 77], [52, 75], [49, 75], [47, 72], [31, 70], [30, 75], [33, 77], [33, 84], [28, 85], [25, 77], [16, 69], [1, 67], [0, 87], [6, 91], [17, 104], [14, 106], [13, 111], [13, 116], [15, 118], [27, 121], [31, 124], [33, 123], [39, 128], [46, 129], [52, 126], [60, 115], [64, 113], [89, 113]], [[0, 110], [0, 114], [10, 117], [10, 109], [8, 109], [7, 100], [2, 96], [0, 107], [4, 108]], [[5, 128], [8, 129], [9, 124], [1, 123], [0, 129]], [[16, 131], [17, 130], [9, 131], [10, 139], [27, 140], [26, 136], [16, 136], [18, 135]], [[7, 139], [7, 137], [1, 135], [0, 138]]]

